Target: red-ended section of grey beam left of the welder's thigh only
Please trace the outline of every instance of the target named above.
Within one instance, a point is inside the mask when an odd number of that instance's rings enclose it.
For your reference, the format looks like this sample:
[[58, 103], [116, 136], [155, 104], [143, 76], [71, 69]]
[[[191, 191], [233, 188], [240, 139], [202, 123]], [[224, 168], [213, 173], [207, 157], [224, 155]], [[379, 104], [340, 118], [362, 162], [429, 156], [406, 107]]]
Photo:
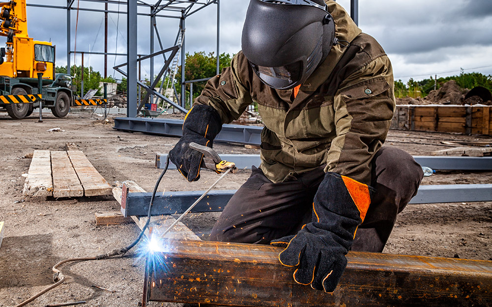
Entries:
[[[202, 199], [191, 212], [220, 212], [229, 201], [235, 190], [211, 191], [207, 198]], [[205, 191], [165, 192], [155, 195], [151, 215], [184, 213]], [[146, 216], [152, 193], [127, 193], [123, 195], [121, 211], [123, 216]], [[147, 208], [146, 213], [141, 214]]]

